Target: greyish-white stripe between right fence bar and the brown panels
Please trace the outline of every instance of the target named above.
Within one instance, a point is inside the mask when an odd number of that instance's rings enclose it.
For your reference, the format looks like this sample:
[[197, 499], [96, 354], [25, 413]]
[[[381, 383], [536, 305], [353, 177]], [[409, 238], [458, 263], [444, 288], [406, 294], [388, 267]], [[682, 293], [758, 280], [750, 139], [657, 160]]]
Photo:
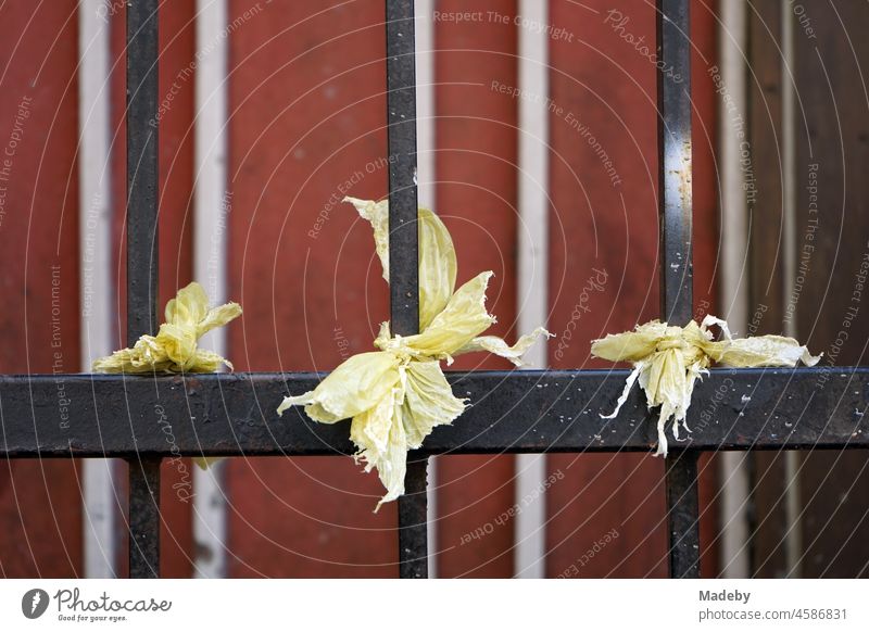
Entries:
[[[731, 106], [719, 101], [719, 156], [721, 164], [721, 303], [731, 328], [746, 333], [748, 327], [748, 207], [743, 188], [740, 146], [747, 125], [746, 7], [721, 3], [718, 34], [721, 80]], [[748, 453], [723, 452], [719, 456], [721, 478], [721, 574], [746, 578], [748, 567]]]

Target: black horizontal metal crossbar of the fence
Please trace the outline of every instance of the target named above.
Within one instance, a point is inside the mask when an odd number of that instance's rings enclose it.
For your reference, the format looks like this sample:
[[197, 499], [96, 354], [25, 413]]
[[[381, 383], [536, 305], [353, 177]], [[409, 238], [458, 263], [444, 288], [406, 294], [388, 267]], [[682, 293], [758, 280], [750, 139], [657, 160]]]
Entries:
[[[616, 419], [625, 370], [450, 372], [469, 408], [437, 428], [421, 454], [647, 451], [655, 412], [634, 388]], [[318, 374], [0, 378], [0, 456], [136, 457], [352, 454], [348, 422], [278, 417], [287, 393]], [[673, 447], [869, 447], [869, 368], [715, 369]]]

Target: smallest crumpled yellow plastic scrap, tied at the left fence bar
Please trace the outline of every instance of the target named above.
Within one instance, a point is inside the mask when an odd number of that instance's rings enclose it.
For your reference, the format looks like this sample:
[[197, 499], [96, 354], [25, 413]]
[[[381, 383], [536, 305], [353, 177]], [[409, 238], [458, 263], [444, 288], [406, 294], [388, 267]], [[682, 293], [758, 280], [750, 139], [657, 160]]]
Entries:
[[197, 282], [178, 290], [166, 303], [166, 321], [156, 336], [142, 336], [133, 349], [122, 349], [93, 362], [103, 374], [214, 372], [229, 361], [199, 349], [199, 339], [241, 315], [238, 303], [209, 307], [205, 290]]

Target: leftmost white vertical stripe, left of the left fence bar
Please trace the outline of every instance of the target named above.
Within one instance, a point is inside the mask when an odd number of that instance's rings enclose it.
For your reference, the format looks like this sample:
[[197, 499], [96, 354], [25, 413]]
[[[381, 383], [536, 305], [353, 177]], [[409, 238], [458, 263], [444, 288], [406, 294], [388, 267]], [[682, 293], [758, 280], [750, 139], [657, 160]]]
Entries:
[[[112, 233], [109, 30], [102, 0], [78, 7], [78, 239], [81, 370], [112, 352]], [[101, 424], [113, 422], [100, 419]], [[85, 459], [83, 549], [85, 577], [115, 574], [113, 460]]]

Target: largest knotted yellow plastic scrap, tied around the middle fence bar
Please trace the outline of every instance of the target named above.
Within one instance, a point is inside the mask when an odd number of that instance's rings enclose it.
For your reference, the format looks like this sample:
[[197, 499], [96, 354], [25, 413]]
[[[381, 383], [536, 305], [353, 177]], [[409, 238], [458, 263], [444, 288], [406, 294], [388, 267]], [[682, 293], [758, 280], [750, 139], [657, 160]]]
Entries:
[[[345, 198], [374, 228], [375, 245], [389, 282], [389, 204]], [[316, 389], [286, 397], [278, 407], [304, 405], [322, 424], [352, 419], [350, 438], [365, 471], [376, 469], [387, 489], [377, 504], [404, 493], [407, 452], [423, 445], [437, 426], [452, 424], [465, 409], [450, 388], [440, 361], [474, 351], [488, 351], [521, 366], [521, 355], [540, 336], [539, 327], [514, 345], [480, 336], [495, 323], [486, 309], [491, 271], [477, 275], [455, 290], [456, 256], [446, 227], [434, 213], [419, 208], [419, 333], [391, 336], [383, 323], [375, 346], [380, 351], [350, 357]], [[377, 510], [375, 509], [375, 510]]]

